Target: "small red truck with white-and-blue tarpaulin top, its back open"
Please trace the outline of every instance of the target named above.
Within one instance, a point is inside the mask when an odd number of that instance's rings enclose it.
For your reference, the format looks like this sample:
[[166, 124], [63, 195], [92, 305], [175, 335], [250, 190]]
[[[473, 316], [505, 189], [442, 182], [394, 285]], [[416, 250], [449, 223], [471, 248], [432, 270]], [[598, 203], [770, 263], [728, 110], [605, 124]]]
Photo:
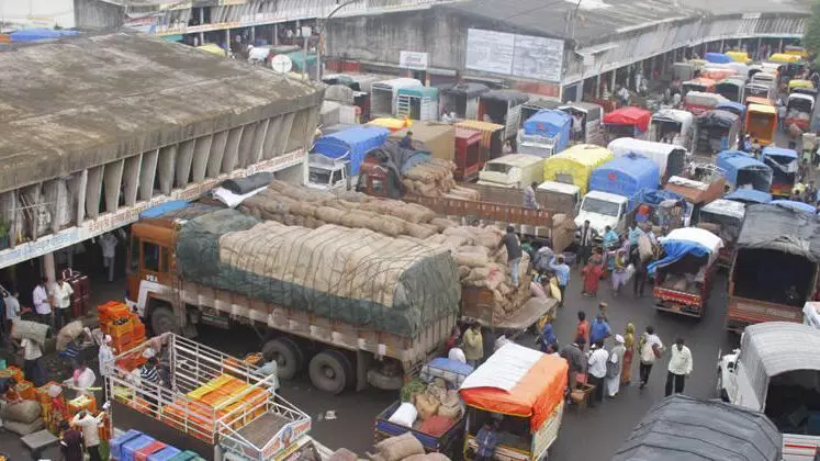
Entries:
[[649, 265], [659, 311], [703, 317], [723, 241], [709, 231], [683, 227], [660, 238], [661, 258]]

